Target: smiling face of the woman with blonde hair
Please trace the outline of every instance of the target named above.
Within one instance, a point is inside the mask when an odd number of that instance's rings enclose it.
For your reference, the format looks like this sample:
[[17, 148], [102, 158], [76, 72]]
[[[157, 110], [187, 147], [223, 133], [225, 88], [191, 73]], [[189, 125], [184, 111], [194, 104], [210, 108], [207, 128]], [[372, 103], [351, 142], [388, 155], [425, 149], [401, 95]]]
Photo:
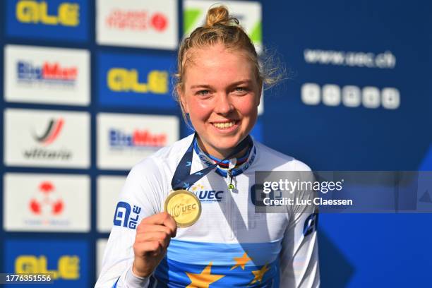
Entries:
[[180, 99], [201, 147], [215, 157], [227, 157], [256, 122], [261, 87], [245, 53], [223, 44], [188, 52]]

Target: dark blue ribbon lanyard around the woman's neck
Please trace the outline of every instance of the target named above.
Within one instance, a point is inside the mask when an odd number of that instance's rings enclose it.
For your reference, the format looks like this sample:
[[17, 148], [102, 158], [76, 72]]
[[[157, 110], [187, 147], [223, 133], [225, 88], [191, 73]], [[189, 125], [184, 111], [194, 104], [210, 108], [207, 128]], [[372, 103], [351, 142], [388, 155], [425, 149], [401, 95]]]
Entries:
[[193, 140], [191, 145], [189, 146], [188, 150], [184, 153], [183, 157], [180, 160], [179, 165], [176, 167], [176, 172], [174, 172], [174, 176], [172, 176], [171, 186], [172, 190], [179, 190], [179, 189], [188, 189], [193, 184], [195, 184], [199, 179], [203, 178], [203, 176], [209, 174], [212, 169], [215, 169], [218, 164], [221, 162], [228, 160], [232, 156], [236, 155], [237, 153], [241, 152], [241, 150], [244, 150], [244, 148], [252, 145], [252, 138], [251, 136], [247, 136], [244, 138], [244, 140], [237, 145], [237, 147], [232, 151], [227, 157], [220, 160], [220, 162], [217, 162], [215, 164], [210, 165], [209, 167], [206, 167], [198, 172], [195, 172], [191, 174], [191, 167], [192, 167], [192, 157], [193, 157], [193, 143], [196, 139], [196, 133], [193, 136]]

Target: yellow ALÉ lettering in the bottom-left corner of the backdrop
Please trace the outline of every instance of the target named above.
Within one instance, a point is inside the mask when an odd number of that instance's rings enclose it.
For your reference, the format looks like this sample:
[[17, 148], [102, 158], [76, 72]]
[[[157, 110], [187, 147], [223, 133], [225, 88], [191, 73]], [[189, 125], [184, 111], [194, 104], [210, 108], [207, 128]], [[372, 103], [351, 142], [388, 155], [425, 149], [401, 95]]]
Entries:
[[53, 274], [54, 280], [77, 280], [80, 278], [80, 258], [76, 255], [61, 256], [56, 270], [48, 270], [46, 256], [22, 255], [15, 260], [15, 272], [23, 274]]

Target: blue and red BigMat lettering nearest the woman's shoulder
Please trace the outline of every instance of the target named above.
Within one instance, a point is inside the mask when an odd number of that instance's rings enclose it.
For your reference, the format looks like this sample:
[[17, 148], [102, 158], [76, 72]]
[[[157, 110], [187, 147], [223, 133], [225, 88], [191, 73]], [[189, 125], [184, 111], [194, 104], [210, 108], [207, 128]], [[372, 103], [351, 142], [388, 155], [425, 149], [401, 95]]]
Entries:
[[111, 148], [161, 148], [167, 145], [167, 133], [152, 133], [148, 129], [127, 133], [121, 129], [109, 130]]

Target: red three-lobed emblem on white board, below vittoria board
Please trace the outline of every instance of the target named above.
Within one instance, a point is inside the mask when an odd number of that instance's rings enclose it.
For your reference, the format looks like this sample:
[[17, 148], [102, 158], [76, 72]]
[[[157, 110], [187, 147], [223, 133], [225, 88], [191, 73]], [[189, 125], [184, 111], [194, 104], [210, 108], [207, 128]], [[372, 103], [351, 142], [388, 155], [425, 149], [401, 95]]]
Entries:
[[64, 210], [64, 201], [56, 193], [50, 181], [44, 181], [38, 187], [37, 194], [30, 200], [30, 211], [34, 215], [60, 215]]

